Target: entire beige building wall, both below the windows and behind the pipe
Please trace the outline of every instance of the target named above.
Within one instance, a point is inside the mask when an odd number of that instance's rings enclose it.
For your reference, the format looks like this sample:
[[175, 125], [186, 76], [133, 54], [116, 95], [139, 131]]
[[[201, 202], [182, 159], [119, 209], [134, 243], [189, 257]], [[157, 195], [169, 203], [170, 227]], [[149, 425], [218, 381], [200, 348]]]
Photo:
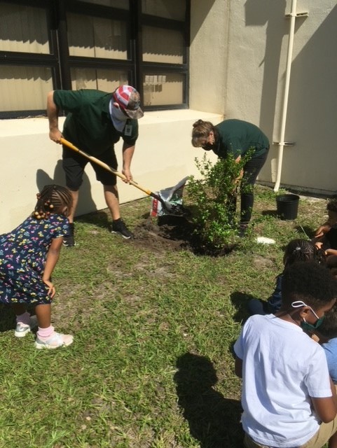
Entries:
[[[281, 186], [336, 192], [336, 0], [298, 0], [294, 55]], [[158, 191], [195, 172], [192, 124], [241, 118], [259, 125], [271, 142], [280, 140], [291, 0], [191, 0], [190, 108], [146, 113], [132, 162], [135, 181]], [[62, 122], [62, 120], [61, 120]], [[33, 209], [46, 183], [64, 183], [61, 147], [48, 139], [46, 118], [0, 120], [0, 233]], [[121, 144], [116, 147], [121, 161]], [[212, 158], [212, 154], [209, 154]], [[214, 159], [214, 158], [213, 158]], [[215, 159], [214, 159], [215, 160]], [[277, 146], [260, 174], [273, 185]], [[118, 183], [121, 202], [144, 197]], [[78, 214], [105, 208], [102, 186], [90, 167]]]

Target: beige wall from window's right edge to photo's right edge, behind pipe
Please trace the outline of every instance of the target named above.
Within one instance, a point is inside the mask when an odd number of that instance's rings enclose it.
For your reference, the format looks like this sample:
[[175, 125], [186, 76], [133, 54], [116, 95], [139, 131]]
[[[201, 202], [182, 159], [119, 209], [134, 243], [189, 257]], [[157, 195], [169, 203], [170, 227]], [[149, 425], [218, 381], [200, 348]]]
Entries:
[[[336, 193], [336, 0], [298, 0], [281, 186]], [[240, 118], [270, 139], [259, 181], [275, 183], [291, 0], [192, 0], [193, 109]]]

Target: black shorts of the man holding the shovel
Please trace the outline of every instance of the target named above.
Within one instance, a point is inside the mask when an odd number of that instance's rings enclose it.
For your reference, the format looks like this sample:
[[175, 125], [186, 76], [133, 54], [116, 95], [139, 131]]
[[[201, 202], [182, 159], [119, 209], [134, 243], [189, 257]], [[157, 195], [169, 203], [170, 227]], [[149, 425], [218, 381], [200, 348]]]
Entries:
[[[62, 159], [62, 167], [66, 175], [66, 185], [69, 190], [77, 191], [81, 187], [85, 165], [87, 165], [88, 162], [95, 170], [97, 181], [107, 186], [116, 185], [116, 174], [112, 174], [97, 165], [97, 163], [91, 162], [87, 158], [83, 157], [83, 155], [75, 153], [64, 146]], [[118, 168], [116, 154], [113, 149], [108, 149], [104, 153], [99, 154], [97, 159], [102, 160], [102, 162], [106, 163], [106, 165], [109, 165], [111, 168]]]

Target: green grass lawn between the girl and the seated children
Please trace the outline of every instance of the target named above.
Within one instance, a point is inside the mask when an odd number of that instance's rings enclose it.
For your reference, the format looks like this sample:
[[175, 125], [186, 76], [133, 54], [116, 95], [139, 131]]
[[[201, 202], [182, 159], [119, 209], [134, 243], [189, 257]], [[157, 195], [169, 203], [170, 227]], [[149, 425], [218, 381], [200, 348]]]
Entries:
[[[121, 207], [130, 229], [149, 207]], [[0, 447], [242, 447], [231, 350], [247, 300], [268, 298], [284, 245], [311, 236], [325, 207], [301, 197], [298, 218], [281, 221], [273, 190], [256, 187], [254, 227], [222, 257], [156, 235], [125, 241], [109, 234], [106, 211], [78, 218], [78, 245], [62, 248], [53, 277], [53, 325], [74, 344], [36, 350], [0, 307]]]

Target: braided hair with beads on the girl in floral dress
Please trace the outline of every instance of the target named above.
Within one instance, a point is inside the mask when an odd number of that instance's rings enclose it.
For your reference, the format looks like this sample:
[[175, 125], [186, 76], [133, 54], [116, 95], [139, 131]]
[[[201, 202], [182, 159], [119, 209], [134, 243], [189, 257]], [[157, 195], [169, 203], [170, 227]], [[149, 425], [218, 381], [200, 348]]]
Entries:
[[36, 197], [37, 202], [32, 213], [34, 218], [45, 219], [52, 213], [69, 216], [73, 199], [68, 188], [46, 185]]

